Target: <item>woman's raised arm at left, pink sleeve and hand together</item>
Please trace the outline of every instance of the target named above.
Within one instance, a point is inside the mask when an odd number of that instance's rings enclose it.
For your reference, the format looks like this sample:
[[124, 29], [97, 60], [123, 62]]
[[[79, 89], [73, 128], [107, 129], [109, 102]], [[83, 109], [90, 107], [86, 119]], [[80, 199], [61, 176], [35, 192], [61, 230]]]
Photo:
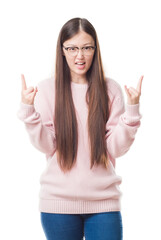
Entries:
[[42, 88], [40, 91], [37, 87], [27, 88], [24, 75], [21, 75], [21, 81], [21, 103], [17, 116], [24, 122], [33, 146], [50, 155], [56, 150], [55, 131], [52, 114], [47, 114]]

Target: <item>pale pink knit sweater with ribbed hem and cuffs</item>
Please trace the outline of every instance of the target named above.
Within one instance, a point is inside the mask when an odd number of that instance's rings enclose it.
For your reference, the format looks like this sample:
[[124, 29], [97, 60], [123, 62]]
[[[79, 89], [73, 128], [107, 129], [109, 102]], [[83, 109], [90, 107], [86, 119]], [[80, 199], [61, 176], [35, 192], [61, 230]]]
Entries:
[[126, 105], [125, 110], [118, 83], [108, 78], [107, 84], [110, 98], [108, 133], [105, 136], [110, 159], [108, 169], [95, 165], [90, 169], [85, 101], [87, 84], [71, 82], [79, 138], [77, 162], [68, 173], [59, 168], [55, 152], [54, 78], [39, 82], [34, 105], [20, 103], [17, 116], [24, 122], [33, 146], [43, 152], [47, 160], [40, 179], [41, 212], [81, 214], [121, 210], [119, 185], [122, 180], [115, 173], [115, 158], [129, 150], [140, 126], [141, 115], [139, 104]]

